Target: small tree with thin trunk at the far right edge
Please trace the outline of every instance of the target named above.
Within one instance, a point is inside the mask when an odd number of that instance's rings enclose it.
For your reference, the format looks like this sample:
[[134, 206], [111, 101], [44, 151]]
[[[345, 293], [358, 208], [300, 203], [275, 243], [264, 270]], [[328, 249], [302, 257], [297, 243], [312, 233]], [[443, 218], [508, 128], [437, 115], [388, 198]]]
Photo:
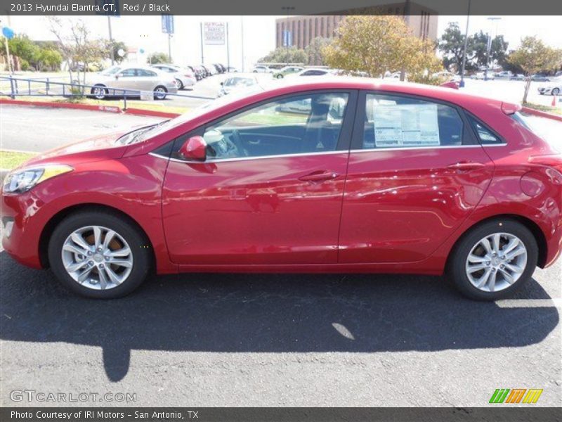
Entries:
[[545, 45], [537, 37], [525, 37], [521, 39], [519, 48], [509, 54], [508, 60], [509, 63], [523, 69], [527, 76], [525, 93], [523, 94], [523, 103], [526, 103], [531, 75], [540, 70], [549, 71], [558, 68], [562, 63], [562, 50]]

